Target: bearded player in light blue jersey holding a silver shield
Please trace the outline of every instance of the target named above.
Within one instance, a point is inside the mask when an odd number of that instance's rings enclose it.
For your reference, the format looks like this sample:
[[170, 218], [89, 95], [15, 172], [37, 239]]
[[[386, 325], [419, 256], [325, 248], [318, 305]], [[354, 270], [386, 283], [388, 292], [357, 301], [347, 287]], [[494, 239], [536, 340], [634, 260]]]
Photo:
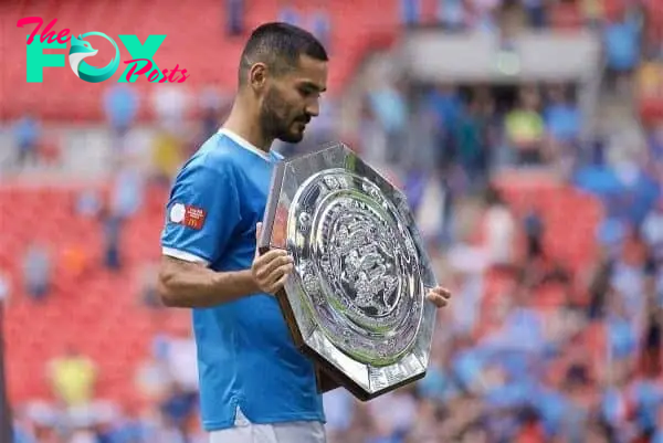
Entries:
[[[220, 129], [173, 184], [159, 293], [193, 308], [203, 426], [211, 443], [325, 442], [314, 363], [293, 345], [272, 295], [293, 271], [285, 251], [256, 252], [274, 139], [298, 143], [319, 112], [327, 54], [308, 32], [261, 25], [241, 56], [239, 91]], [[446, 304], [435, 288], [430, 299]]]

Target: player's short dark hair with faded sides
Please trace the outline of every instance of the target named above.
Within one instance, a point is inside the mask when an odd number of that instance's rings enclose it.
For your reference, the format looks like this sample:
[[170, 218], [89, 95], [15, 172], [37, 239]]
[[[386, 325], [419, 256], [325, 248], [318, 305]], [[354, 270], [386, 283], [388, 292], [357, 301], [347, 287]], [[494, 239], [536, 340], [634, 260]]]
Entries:
[[287, 23], [272, 22], [257, 27], [249, 38], [240, 60], [240, 85], [246, 82], [246, 74], [255, 63], [264, 63], [275, 75], [295, 70], [299, 57], [328, 61], [323, 44], [308, 31]]

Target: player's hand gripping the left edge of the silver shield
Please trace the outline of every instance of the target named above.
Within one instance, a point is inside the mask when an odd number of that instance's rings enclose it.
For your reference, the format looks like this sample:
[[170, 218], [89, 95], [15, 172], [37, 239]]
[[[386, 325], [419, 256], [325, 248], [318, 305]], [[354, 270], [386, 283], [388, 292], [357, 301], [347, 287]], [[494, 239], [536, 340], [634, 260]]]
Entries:
[[[260, 239], [262, 223], [255, 228], [255, 239]], [[276, 294], [283, 287], [291, 272], [293, 272], [293, 259], [284, 250], [271, 250], [260, 254], [255, 247], [255, 257], [251, 265], [251, 274], [260, 291], [267, 294]]]

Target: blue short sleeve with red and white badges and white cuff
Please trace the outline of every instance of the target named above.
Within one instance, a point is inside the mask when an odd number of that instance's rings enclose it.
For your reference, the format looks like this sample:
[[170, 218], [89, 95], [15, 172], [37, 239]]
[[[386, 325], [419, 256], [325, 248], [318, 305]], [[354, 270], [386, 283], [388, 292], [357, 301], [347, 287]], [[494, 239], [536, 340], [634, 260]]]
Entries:
[[213, 263], [240, 221], [238, 189], [229, 166], [188, 165], [178, 175], [161, 233], [165, 255]]

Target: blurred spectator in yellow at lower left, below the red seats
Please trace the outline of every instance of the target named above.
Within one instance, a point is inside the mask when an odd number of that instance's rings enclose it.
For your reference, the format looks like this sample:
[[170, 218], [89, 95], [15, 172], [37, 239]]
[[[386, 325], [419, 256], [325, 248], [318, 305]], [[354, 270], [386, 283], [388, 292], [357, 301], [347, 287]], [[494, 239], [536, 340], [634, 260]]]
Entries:
[[94, 400], [96, 367], [75, 347], [51, 360], [49, 379], [55, 398], [66, 408], [86, 407]]

